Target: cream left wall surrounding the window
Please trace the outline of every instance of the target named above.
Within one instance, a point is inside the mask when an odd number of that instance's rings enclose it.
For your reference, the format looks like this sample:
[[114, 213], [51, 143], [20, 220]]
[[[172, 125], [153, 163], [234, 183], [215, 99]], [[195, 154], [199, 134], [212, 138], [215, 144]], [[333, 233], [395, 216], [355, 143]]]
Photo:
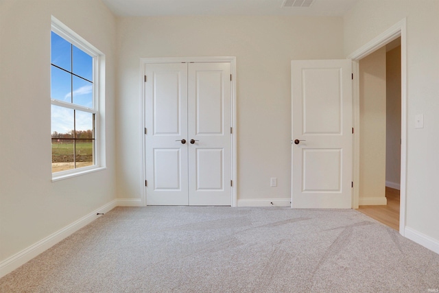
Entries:
[[[51, 15], [106, 54], [107, 169], [54, 183]], [[0, 1], [0, 264], [116, 197], [115, 25], [99, 0]]]

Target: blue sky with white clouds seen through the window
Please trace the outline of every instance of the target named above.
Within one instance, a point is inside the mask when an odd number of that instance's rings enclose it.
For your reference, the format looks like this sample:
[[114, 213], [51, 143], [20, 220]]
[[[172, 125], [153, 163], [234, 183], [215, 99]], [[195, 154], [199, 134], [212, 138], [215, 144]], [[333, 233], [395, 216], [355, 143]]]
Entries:
[[[65, 70], [51, 66], [51, 99], [93, 108], [93, 58], [52, 32], [51, 63]], [[93, 115], [76, 110], [76, 130], [92, 128]], [[71, 130], [73, 110], [52, 105], [51, 132], [65, 133]]]

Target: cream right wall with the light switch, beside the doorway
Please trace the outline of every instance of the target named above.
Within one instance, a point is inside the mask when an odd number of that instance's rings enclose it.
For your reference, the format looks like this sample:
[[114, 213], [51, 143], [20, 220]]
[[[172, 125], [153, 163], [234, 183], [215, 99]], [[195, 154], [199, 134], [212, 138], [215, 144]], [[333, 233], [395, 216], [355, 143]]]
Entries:
[[[439, 1], [358, 1], [344, 17], [346, 56], [407, 18], [407, 209], [405, 232], [439, 251]], [[415, 115], [424, 128], [415, 129]], [[407, 230], [408, 229], [408, 230]], [[404, 231], [403, 231], [404, 232]], [[407, 234], [406, 234], [407, 235]]]

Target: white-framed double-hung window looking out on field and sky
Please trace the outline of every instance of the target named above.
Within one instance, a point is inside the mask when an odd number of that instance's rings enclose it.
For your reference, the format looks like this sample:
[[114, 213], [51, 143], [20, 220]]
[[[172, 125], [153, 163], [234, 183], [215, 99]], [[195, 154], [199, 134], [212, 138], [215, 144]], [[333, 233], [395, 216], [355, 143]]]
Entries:
[[99, 165], [99, 53], [52, 19], [52, 177], [79, 174]]

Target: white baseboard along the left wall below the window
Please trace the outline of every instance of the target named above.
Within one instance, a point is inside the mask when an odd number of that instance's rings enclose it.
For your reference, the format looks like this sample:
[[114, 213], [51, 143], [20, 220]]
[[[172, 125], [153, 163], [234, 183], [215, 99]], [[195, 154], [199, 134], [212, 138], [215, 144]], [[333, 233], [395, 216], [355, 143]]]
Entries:
[[27, 263], [27, 261], [30, 261], [40, 253], [43, 253], [45, 250], [51, 248], [61, 240], [69, 237], [71, 234], [75, 233], [80, 228], [86, 226], [87, 224], [90, 224], [91, 222], [93, 222], [93, 220], [99, 218], [101, 215], [97, 215], [97, 213], [106, 213], [114, 209], [115, 207], [117, 207], [117, 200], [112, 200], [108, 204], [105, 204], [99, 209], [95, 209], [95, 211], [88, 213], [88, 215], [85, 215], [84, 217], [65, 226], [64, 228], [60, 229], [59, 231], [56, 231], [55, 233], [52, 233], [51, 235], [45, 237], [44, 239], [36, 242], [32, 246], [29, 246], [28, 248], [21, 250], [19, 253], [12, 255], [12, 257], [9, 257], [8, 259], [1, 261], [0, 278], [5, 276], [6, 274], [9, 274], [16, 268], [19, 268], [19, 266], [22, 266], [24, 263]]

